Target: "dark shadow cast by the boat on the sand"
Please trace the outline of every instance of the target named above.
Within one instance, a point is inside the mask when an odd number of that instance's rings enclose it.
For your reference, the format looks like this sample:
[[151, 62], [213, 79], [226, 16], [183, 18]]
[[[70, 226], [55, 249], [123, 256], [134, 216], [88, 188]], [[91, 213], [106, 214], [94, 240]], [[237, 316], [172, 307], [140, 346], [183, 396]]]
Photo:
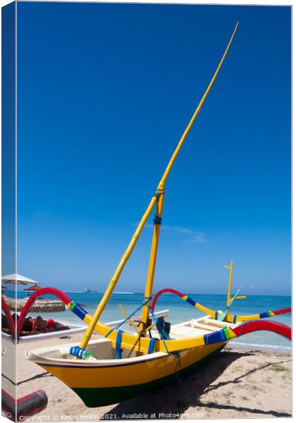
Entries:
[[[278, 412], [276, 410], [260, 410], [258, 408], [250, 407], [239, 407], [230, 405], [226, 396], [219, 396], [219, 403], [212, 400], [201, 400], [206, 393], [214, 393], [218, 388], [223, 386], [229, 386], [234, 391], [240, 387], [244, 379], [258, 372], [260, 370], [267, 369], [274, 364], [281, 364], [283, 361], [282, 357], [278, 357], [278, 362], [270, 362], [260, 367], [252, 368], [248, 372], [239, 374], [235, 379], [221, 381], [215, 384], [221, 374], [232, 364], [235, 360], [241, 357], [254, 356], [252, 352], [237, 352], [226, 350], [211, 359], [210, 362], [204, 364], [199, 369], [195, 370], [188, 376], [174, 384], [166, 385], [161, 388], [156, 388], [149, 393], [142, 394], [131, 400], [126, 400], [123, 403], [117, 404], [106, 415], [112, 415], [113, 419], [122, 419], [123, 417], [128, 418], [127, 415], [140, 415], [146, 414], [147, 419], [179, 419], [179, 418], [193, 418], [190, 417], [190, 413], [186, 410], [190, 407], [196, 407], [194, 410], [195, 418], [207, 417], [209, 409], [211, 410], [226, 410], [237, 411], [243, 413], [252, 413], [254, 417], [274, 416], [274, 417], [290, 417], [291, 415], [286, 412]], [[266, 393], [268, 396], [268, 393]], [[168, 400], [170, 398], [170, 400]], [[155, 413], [155, 415], [154, 415]], [[182, 416], [183, 414], [183, 416]], [[125, 415], [125, 416], [123, 416]], [[221, 416], [222, 417], [222, 416]], [[137, 417], [136, 417], [137, 418]]]

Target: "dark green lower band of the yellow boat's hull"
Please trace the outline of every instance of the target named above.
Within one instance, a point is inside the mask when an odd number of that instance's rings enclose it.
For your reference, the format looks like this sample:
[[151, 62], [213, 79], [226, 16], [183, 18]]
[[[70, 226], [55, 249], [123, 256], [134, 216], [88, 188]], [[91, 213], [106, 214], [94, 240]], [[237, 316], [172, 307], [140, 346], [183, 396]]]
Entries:
[[[223, 345], [224, 346], [224, 345]], [[218, 348], [218, 350], [214, 351], [207, 355], [206, 357], [202, 358], [198, 362], [194, 364], [190, 364], [190, 366], [185, 367], [178, 372], [178, 376], [184, 376], [192, 372], [193, 370], [197, 369], [197, 367], [204, 364], [204, 362], [208, 361], [210, 358], [214, 357], [223, 347]], [[176, 375], [175, 373], [169, 374], [161, 379], [156, 379], [155, 381], [147, 382], [146, 384], [137, 384], [132, 386], [120, 386], [114, 388], [71, 388], [75, 393], [80, 396], [82, 401], [85, 403], [87, 407], [102, 407], [103, 405], [111, 405], [115, 403], [121, 403], [123, 400], [128, 400], [129, 398], [135, 397], [140, 395], [141, 393], [151, 391], [154, 388], [157, 388], [161, 385], [167, 384], [170, 381], [175, 381]]]

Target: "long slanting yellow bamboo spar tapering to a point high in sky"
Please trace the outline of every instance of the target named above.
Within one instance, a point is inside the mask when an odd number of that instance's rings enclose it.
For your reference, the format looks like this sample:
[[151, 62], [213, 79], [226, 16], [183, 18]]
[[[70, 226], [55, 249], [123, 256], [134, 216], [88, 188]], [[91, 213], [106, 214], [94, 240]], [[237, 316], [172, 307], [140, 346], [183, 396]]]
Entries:
[[[226, 50], [224, 51], [224, 54], [222, 56], [222, 59], [220, 63], [218, 64], [218, 67], [216, 68], [216, 72], [214, 73], [213, 78], [211, 78], [211, 82], [209, 83], [209, 86], [206, 88], [206, 91], [204, 92], [204, 95], [202, 96], [202, 99], [199, 102], [199, 105], [197, 106], [197, 109], [195, 110], [195, 113], [193, 114], [192, 118], [190, 119], [190, 122], [187, 125], [187, 128], [185, 129], [182, 137], [180, 138], [180, 141], [178, 142], [177, 147], [175, 148], [175, 151], [173, 152], [173, 155], [171, 157], [171, 160], [168, 162], [168, 166], [166, 167], [166, 170], [164, 171], [164, 175], [162, 176], [161, 180], [159, 181], [158, 189], [164, 185], [166, 182], [166, 179], [168, 178], [168, 174], [171, 171], [171, 168], [174, 164], [174, 161], [176, 157], [178, 156], [178, 153], [180, 152], [180, 149], [183, 145], [183, 142], [185, 141], [185, 138], [187, 137], [187, 134], [189, 133], [190, 129], [192, 128], [192, 125], [195, 121], [195, 118], [199, 114], [200, 109], [202, 108], [202, 105], [204, 104], [204, 100], [206, 99], [207, 95], [209, 94], [209, 91], [211, 90], [212, 85], [214, 84], [214, 81], [216, 80], [216, 77], [221, 69], [221, 66], [223, 65], [223, 61], [226, 58], [226, 55], [228, 53], [228, 50], [230, 48], [231, 43], [233, 42], [233, 37], [235, 36], [235, 32], [238, 29], [238, 23], [235, 25], [235, 30], [233, 31], [233, 35], [230, 38], [230, 41], [228, 42], [228, 45], [226, 47]], [[149, 206], [147, 207], [146, 212], [144, 212], [144, 215], [142, 216], [142, 219], [140, 220], [140, 223], [137, 226], [137, 229], [135, 230], [134, 235], [132, 235], [132, 239], [130, 240], [130, 243], [128, 245], [128, 248], [125, 250], [125, 253], [123, 254], [123, 257], [121, 258], [121, 261], [119, 262], [116, 271], [114, 272], [111, 281], [109, 282], [109, 286], [106, 289], [103, 298], [101, 298], [101, 301], [99, 302], [99, 305], [97, 306], [96, 311], [94, 312], [94, 315], [92, 317], [92, 321], [90, 322], [89, 326], [87, 326], [87, 329], [83, 335], [83, 338], [80, 342], [80, 348], [85, 348], [87, 346], [87, 343], [90, 341], [90, 338], [92, 336], [92, 333], [94, 331], [94, 328], [97, 324], [97, 321], [101, 317], [101, 313], [104, 311], [104, 308], [106, 307], [107, 302], [109, 301], [109, 298], [111, 297], [111, 294], [113, 292], [113, 289], [116, 286], [116, 283], [118, 281], [119, 276], [121, 276], [121, 272], [123, 271], [123, 268], [128, 262], [128, 259], [130, 255], [132, 254], [132, 250], [134, 249], [138, 238], [140, 237], [140, 233], [142, 232], [142, 229], [144, 228], [145, 223], [147, 222], [147, 219], [149, 218], [152, 209], [154, 207], [154, 204], [156, 203], [156, 196], [152, 197], [152, 200], [149, 203]]]

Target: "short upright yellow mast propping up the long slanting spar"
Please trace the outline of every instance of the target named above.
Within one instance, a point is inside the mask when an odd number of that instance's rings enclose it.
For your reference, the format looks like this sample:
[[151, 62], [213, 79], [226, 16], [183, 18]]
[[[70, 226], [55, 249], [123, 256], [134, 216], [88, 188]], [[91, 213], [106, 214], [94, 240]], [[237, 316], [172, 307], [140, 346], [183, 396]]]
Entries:
[[[159, 188], [159, 198], [156, 201], [156, 217], [159, 217], [161, 219], [163, 209], [164, 209], [164, 185], [161, 185]], [[161, 229], [161, 225], [157, 222], [154, 223], [144, 300], [152, 297], [156, 258], [157, 258], [157, 249], [159, 246], [160, 229]], [[148, 302], [147, 305], [150, 305], [150, 302]], [[141, 316], [141, 330], [142, 331], [146, 329], [148, 318], [149, 318], [149, 308], [143, 307], [142, 316]]]

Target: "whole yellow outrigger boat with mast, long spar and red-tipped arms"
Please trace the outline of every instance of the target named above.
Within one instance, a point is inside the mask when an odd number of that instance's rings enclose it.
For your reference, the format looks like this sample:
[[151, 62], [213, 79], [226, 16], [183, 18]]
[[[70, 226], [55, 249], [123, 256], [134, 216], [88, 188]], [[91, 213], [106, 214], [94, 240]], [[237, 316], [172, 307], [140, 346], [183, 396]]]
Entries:
[[[101, 405], [118, 403], [143, 391], [150, 390], [154, 386], [175, 380], [176, 375], [178, 378], [182, 374], [191, 372], [197, 366], [218, 353], [228, 341], [246, 333], [253, 331], [273, 331], [288, 339], [291, 338], [291, 329], [288, 326], [275, 321], [261, 320], [266, 317], [290, 312], [290, 308], [269, 310], [252, 316], [235, 316], [229, 314], [231, 303], [241, 298], [238, 295], [239, 293], [236, 293], [233, 298], [230, 295], [233, 262], [231, 262], [230, 266], [227, 266], [230, 269], [230, 279], [226, 309], [224, 311], [206, 308], [176, 290], [165, 290], [166, 292], [169, 291], [179, 295], [180, 298], [183, 298], [190, 305], [202, 310], [205, 315], [198, 319], [192, 319], [170, 326], [164, 320], [164, 317], [157, 318], [154, 314], [156, 300], [161, 293], [165, 292], [162, 290], [152, 299], [156, 255], [164, 207], [165, 183], [185, 137], [189, 133], [221, 69], [237, 28], [238, 24], [235, 26], [233, 35], [216, 68], [214, 76], [206, 88], [183, 136], [180, 138], [152, 200], [149, 202], [149, 206], [146, 212], [144, 212], [94, 315], [91, 316], [78, 303], [71, 301], [65, 293], [54, 288], [39, 290], [31, 298], [31, 301], [34, 301], [38, 295], [54, 293], [65, 302], [73, 313], [87, 323], [88, 326], [80, 345], [66, 344], [32, 350], [27, 352], [27, 359], [36, 362], [39, 366], [47, 370], [47, 372], [50, 372], [63, 381], [64, 384], [80, 396], [88, 407], [99, 407]], [[140, 237], [140, 233], [154, 208], [156, 209], [156, 215], [154, 218], [147, 283], [142, 304], [130, 315], [121, 307], [126, 316], [123, 322], [130, 323], [132, 330], [120, 329], [120, 327], [123, 328], [121, 325], [111, 328], [99, 320], [101, 313], [104, 311], [113, 289], [118, 282], [118, 278], [121, 276], [121, 272], [126, 262], [128, 262], [132, 250]], [[140, 310], [142, 310], [140, 323], [136, 325], [135, 321], [132, 321], [132, 316], [139, 313]], [[100, 333], [103, 338], [91, 341], [90, 338], [93, 331]]]

